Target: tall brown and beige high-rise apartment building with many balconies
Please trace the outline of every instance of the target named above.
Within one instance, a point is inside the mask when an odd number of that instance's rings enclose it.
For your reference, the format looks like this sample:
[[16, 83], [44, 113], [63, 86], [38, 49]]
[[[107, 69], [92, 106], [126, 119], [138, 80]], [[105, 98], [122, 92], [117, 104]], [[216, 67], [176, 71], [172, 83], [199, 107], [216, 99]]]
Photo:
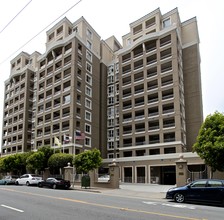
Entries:
[[[98, 148], [122, 181], [175, 182], [203, 122], [196, 18], [156, 9], [130, 24], [123, 46], [81, 17], [47, 31], [46, 51], [20, 53], [5, 82], [2, 154], [55, 146]], [[77, 138], [76, 132], [83, 133]]]

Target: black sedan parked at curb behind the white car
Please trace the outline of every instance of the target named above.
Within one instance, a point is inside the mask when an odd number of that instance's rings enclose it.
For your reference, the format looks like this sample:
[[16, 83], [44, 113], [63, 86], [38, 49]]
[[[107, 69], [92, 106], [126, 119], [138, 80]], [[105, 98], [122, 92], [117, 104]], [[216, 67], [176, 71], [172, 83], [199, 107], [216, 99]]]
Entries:
[[47, 178], [46, 180], [42, 180], [38, 183], [39, 187], [49, 187], [52, 189], [68, 189], [71, 184], [69, 180], [64, 180], [61, 178]]

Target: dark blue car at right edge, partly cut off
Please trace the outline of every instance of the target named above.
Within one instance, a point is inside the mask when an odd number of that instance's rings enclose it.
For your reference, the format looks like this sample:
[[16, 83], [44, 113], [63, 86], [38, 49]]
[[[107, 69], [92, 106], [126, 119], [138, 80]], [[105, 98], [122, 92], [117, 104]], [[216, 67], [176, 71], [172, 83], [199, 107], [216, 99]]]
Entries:
[[166, 199], [178, 203], [189, 201], [224, 205], [224, 180], [201, 179], [186, 186], [171, 188], [166, 193]]

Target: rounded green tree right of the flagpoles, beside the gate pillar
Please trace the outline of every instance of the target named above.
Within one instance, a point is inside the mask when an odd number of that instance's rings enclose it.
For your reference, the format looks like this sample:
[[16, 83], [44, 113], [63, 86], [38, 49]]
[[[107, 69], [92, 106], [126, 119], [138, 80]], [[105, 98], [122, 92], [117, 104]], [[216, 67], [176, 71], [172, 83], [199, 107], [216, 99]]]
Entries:
[[80, 173], [88, 173], [91, 170], [97, 169], [102, 164], [100, 151], [97, 149], [84, 151], [74, 157], [73, 164], [77, 172]]

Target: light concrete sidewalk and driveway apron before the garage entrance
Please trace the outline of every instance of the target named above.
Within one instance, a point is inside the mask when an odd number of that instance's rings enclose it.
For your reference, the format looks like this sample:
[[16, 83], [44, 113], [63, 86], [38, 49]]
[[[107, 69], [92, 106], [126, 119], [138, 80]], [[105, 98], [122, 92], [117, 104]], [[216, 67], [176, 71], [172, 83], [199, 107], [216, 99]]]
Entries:
[[119, 189], [110, 188], [80, 188], [75, 186], [75, 190], [86, 192], [96, 192], [111, 196], [127, 196], [145, 199], [164, 199], [168, 189], [174, 187], [173, 185], [158, 185], [158, 184], [120, 184]]

